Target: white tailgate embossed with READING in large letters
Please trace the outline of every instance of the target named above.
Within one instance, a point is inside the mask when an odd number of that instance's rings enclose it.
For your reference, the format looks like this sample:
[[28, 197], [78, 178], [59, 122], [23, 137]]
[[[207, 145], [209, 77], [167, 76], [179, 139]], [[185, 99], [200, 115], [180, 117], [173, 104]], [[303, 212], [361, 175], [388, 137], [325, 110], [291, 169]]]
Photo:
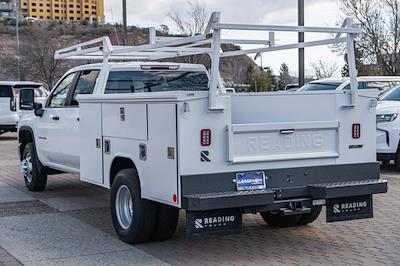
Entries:
[[232, 124], [231, 163], [337, 158], [339, 121]]

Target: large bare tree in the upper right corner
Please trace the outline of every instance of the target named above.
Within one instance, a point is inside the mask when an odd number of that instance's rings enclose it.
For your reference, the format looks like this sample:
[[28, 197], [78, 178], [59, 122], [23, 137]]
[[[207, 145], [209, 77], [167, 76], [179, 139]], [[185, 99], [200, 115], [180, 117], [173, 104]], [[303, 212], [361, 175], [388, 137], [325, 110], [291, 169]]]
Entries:
[[357, 49], [377, 74], [400, 74], [400, 0], [340, 0], [345, 15], [356, 19], [362, 34]]

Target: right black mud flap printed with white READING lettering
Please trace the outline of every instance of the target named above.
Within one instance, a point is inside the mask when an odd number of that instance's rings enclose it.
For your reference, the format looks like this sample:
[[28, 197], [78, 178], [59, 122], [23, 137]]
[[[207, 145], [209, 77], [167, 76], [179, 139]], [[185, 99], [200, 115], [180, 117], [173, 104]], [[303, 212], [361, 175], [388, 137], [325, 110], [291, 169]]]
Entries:
[[326, 202], [326, 221], [337, 222], [372, 218], [372, 195], [328, 199]]

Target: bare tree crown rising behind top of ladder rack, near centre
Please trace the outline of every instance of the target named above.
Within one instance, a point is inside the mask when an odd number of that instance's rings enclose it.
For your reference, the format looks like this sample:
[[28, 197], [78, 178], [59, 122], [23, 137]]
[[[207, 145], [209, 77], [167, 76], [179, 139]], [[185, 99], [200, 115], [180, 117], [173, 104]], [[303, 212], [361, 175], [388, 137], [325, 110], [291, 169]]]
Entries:
[[182, 16], [178, 12], [171, 12], [168, 13], [168, 17], [181, 34], [196, 35], [203, 33], [209, 18], [209, 12], [205, 4], [197, 0], [194, 2], [188, 1], [187, 4], [188, 10], [185, 16]]

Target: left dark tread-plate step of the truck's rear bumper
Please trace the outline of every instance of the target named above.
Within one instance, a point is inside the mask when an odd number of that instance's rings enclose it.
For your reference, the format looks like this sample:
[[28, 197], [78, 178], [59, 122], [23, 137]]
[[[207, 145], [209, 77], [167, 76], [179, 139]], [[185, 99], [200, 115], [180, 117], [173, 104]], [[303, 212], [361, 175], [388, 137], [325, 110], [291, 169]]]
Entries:
[[190, 211], [267, 205], [273, 202], [274, 191], [271, 189], [193, 194], [183, 197], [184, 208]]

